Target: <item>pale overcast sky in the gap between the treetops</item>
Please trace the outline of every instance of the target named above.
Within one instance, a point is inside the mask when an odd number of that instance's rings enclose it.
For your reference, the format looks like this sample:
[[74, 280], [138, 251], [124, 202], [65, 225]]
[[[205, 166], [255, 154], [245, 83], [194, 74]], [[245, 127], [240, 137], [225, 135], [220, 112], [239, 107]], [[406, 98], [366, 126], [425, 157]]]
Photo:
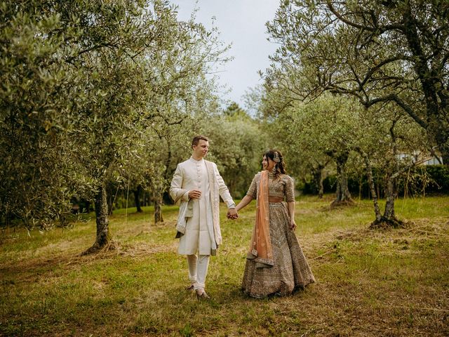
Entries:
[[206, 28], [215, 26], [220, 31], [221, 40], [232, 44], [229, 55], [234, 57], [220, 68], [220, 84], [231, 88], [223, 98], [234, 100], [245, 107], [243, 95], [250, 87], [261, 84], [258, 70], [269, 66], [268, 55], [274, 53], [276, 45], [267, 41], [265, 22], [274, 18], [279, 0], [171, 0], [178, 6], [178, 19], [188, 20], [195, 8], [196, 22]]

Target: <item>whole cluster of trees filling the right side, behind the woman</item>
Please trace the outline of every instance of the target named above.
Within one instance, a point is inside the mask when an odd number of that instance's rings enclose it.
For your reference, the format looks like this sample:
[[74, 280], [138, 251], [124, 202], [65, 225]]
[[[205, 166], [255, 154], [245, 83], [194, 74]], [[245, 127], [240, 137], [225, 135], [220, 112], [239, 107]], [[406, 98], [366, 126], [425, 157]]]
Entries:
[[[445, 1], [285, 0], [267, 24], [280, 46], [264, 74], [264, 114], [314, 190], [335, 165], [335, 202], [351, 202], [347, 166], [366, 171], [373, 225], [401, 225], [401, 175], [435, 149], [449, 162], [448, 13]], [[373, 166], [385, 172], [383, 214]]]

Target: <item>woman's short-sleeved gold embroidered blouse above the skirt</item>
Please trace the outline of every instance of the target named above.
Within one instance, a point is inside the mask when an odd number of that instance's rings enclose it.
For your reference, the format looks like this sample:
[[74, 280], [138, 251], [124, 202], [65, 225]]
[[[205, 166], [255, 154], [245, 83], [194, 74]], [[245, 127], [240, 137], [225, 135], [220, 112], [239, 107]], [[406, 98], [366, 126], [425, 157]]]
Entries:
[[[246, 192], [246, 194], [252, 197], [253, 199], [257, 199], [257, 187], [259, 186], [259, 182], [260, 182], [260, 172], [254, 176], [253, 182], [251, 183], [248, 192]], [[285, 197], [285, 200], [287, 202], [295, 201], [293, 179], [290, 176], [287, 176], [286, 174], [281, 174], [278, 176], [278, 178], [274, 180], [269, 179], [268, 194], [269, 197], [280, 197], [280, 198]]]

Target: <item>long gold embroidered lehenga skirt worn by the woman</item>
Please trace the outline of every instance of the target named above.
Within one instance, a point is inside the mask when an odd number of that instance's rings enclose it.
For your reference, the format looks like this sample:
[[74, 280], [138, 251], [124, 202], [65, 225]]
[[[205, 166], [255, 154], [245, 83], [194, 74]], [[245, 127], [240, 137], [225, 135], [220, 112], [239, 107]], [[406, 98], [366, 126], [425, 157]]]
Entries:
[[242, 290], [249, 296], [286, 296], [315, 282], [295, 232], [288, 227], [289, 223], [285, 204], [269, 203], [269, 234], [274, 265], [256, 267], [253, 260], [246, 260]]

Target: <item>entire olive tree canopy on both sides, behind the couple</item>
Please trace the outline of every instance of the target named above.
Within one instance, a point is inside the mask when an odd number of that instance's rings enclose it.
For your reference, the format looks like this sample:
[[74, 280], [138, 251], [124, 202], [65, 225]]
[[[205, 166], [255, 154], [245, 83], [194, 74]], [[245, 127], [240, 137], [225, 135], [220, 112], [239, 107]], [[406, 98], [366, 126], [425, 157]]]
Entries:
[[316, 192], [327, 167], [336, 199], [350, 200], [347, 171], [377, 166], [394, 197], [423, 153], [449, 162], [448, 6], [281, 1], [267, 24], [279, 48], [244, 110], [220, 107], [213, 72], [229, 46], [194, 13], [178, 20], [168, 1], [4, 1], [0, 223], [65, 223], [76, 196], [95, 201], [101, 247], [108, 194], [124, 185], [152, 194], [161, 221], [175, 166], [199, 133], [235, 197], [273, 147]]

